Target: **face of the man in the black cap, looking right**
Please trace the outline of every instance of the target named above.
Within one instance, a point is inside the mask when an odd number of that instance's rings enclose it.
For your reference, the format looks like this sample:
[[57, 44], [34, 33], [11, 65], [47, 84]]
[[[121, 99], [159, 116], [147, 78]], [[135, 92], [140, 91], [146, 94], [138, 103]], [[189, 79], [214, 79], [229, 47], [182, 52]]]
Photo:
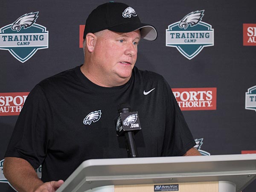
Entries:
[[93, 50], [93, 67], [97, 67], [97, 76], [109, 86], [127, 82], [137, 60], [137, 47], [140, 30], [119, 33], [105, 30], [97, 36]]

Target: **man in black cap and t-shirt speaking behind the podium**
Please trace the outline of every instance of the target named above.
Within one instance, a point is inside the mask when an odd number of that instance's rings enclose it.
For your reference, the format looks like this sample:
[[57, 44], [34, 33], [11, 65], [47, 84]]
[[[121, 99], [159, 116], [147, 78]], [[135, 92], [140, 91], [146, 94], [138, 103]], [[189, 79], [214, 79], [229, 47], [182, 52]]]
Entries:
[[[113, 120], [124, 102], [140, 114], [139, 157], [200, 155], [167, 82], [134, 67], [140, 39], [156, 37], [126, 4], [93, 10], [84, 64], [37, 84], [17, 120], [4, 175], [19, 192], [54, 192], [84, 160], [127, 157]], [[34, 170], [41, 164], [42, 180]]]

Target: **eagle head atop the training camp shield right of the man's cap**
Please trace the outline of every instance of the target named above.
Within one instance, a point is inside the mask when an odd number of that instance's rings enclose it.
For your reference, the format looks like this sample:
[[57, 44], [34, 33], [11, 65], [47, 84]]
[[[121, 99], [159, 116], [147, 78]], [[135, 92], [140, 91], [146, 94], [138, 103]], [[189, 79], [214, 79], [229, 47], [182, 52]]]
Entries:
[[203, 16], [204, 10], [191, 12], [186, 15], [182, 20], [180, 20], [179, 27], [186, 29], [188, 28], [189, 24], [190, 26], [195, 26], [202, 20]]

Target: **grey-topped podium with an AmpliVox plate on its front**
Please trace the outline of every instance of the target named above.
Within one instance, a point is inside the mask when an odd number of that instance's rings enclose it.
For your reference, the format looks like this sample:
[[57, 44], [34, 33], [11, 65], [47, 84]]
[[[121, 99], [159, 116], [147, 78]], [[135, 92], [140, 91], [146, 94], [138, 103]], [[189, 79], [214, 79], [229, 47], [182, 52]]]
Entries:
[[256, 154], [86, 160], [56, 192], [241, 192]]

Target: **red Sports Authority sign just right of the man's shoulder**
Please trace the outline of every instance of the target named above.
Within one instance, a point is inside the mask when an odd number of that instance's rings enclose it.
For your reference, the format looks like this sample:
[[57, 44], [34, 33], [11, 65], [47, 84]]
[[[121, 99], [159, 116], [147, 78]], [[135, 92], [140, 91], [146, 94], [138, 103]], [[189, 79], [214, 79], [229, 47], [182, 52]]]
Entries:
[[172, 88], [182, 111], [216, 110], [217, 88]]

